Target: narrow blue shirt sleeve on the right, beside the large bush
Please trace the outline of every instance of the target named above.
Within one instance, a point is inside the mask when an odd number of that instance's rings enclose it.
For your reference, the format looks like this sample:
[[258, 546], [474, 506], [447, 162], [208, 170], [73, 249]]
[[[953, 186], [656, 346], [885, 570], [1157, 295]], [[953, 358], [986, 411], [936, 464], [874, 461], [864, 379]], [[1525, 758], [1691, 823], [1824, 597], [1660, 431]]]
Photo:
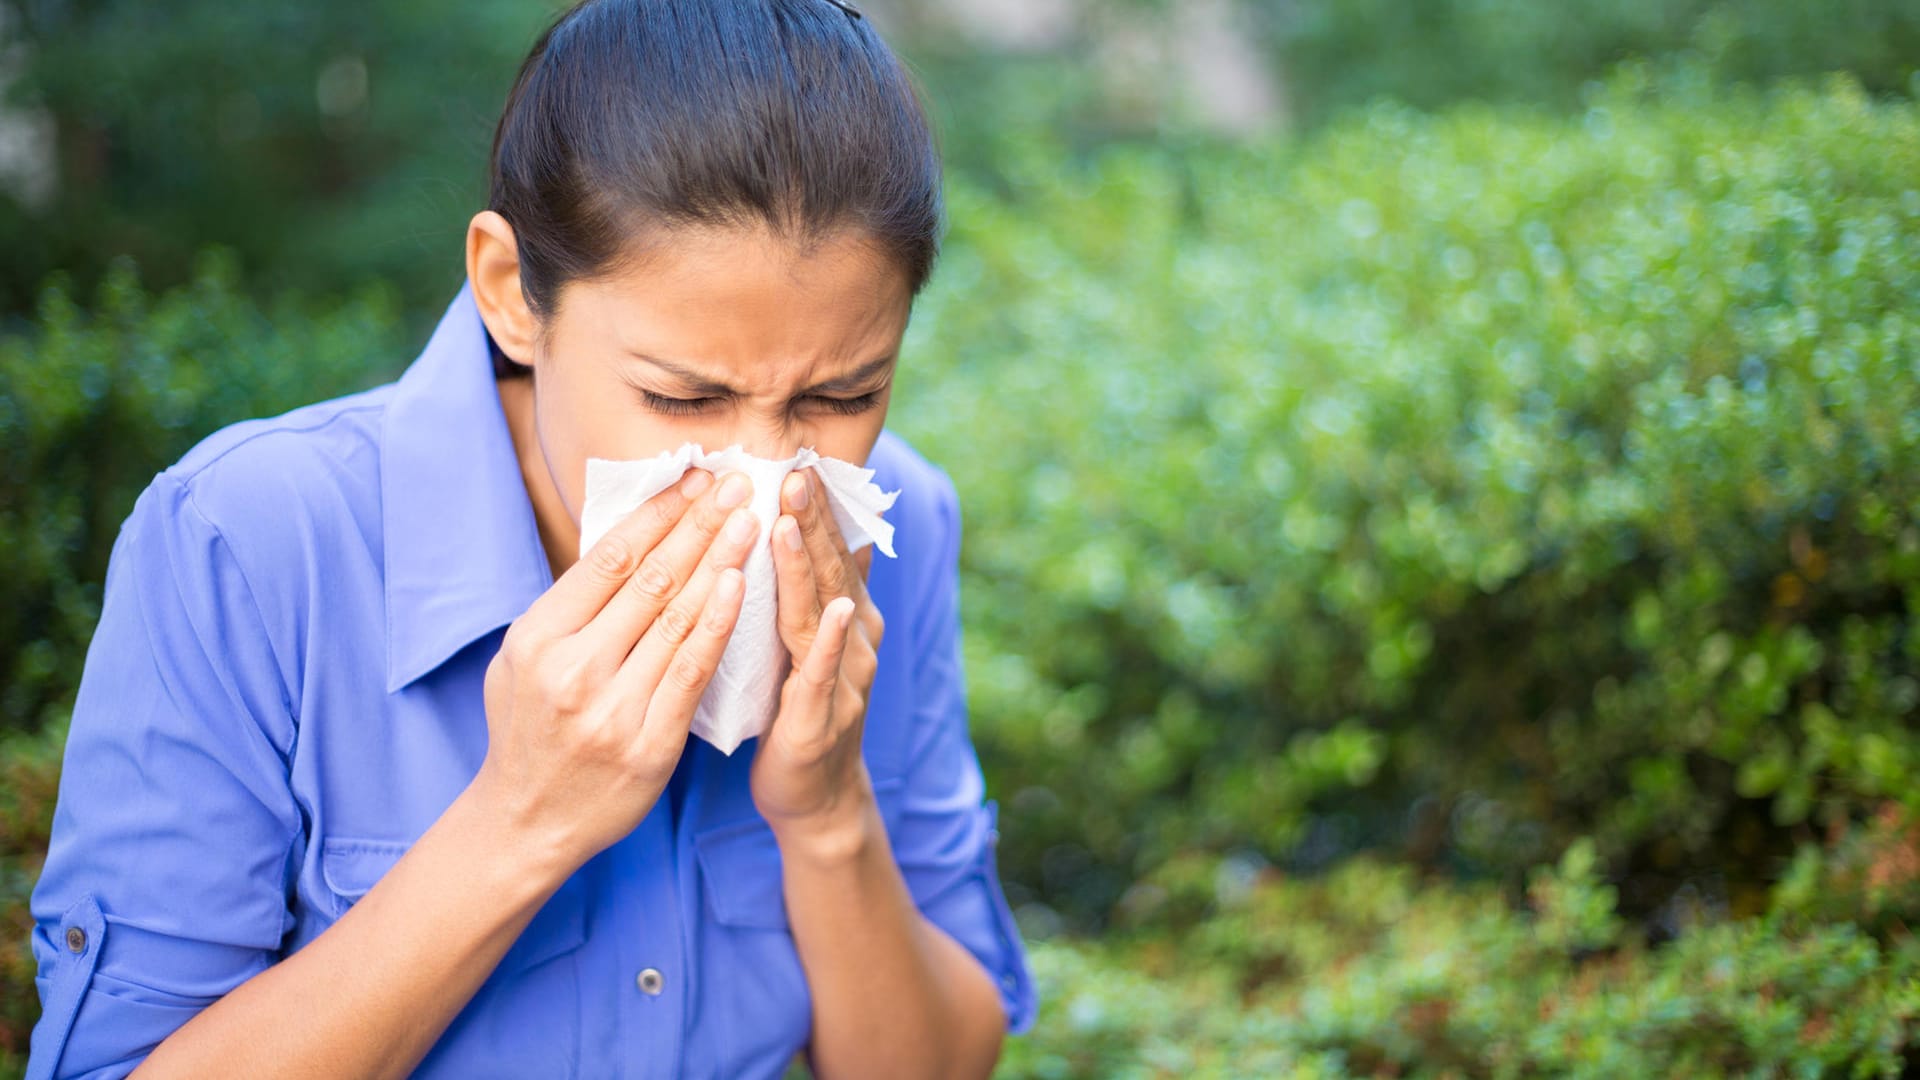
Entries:
[[[939, 563], [914, 605], [914, 723], [893, 851], [920, 911], [966, 945], [1000, 988], [1008, 1034], [1033, 1028], [1039, 1005], [1025, 944], [1008, 909], [996, 865], [998, 803], [968, 734], [960, 659], [960, 500], [939, 479]], [[889, 630], [891, 632], [891, 630]]]

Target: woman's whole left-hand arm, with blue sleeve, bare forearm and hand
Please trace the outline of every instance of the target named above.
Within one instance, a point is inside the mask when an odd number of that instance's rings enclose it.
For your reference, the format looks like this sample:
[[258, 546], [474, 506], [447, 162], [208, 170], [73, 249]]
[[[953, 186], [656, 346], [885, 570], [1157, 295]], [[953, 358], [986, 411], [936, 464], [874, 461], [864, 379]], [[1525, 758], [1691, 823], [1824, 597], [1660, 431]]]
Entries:
[[[271, 738], [248, 734], [255, 723], [242, 715], [273, 721], [280, 701], [232, 661], [234, 650], [267, 651], [263, 628], [246, 617], [248, 588], [219, 530], [184, 488], [157, 484], [109, 575], [111, 638], [90, 657], [69, 742], [75, 784], [63, 778], [54, 872], [35, 897], [48, 1020], [35, 1074], [131, 1063], [140, 1076], [196, 1078], [413, 1070], [541, 903], [664, 790], [739, 613], [737, 567], [758, 534], [749, 492], [745, 477], [689, 473], [568, 567], [486, 671], [488, 753], [474, 780], [346, 915], [261, 965], [290, 919], [267, 878], [300, 826], [280, 749], [292, 732], [278, 717]], [[196, 617], [186, 598], [200, 594], [232, 603]], [[196, 813], [163, 824], [123, 813], [129, 799], [98, 782], [102, 771], [136, 788], [136, 807]], [[96, 915], [113, 924], [69, 920]], [[129, 944], [109, 949], [109, 936]], [[94, 986], [108, 953], [113, 980], [140, 994]], [[261, 967], [246, 978], [242, 965]]]

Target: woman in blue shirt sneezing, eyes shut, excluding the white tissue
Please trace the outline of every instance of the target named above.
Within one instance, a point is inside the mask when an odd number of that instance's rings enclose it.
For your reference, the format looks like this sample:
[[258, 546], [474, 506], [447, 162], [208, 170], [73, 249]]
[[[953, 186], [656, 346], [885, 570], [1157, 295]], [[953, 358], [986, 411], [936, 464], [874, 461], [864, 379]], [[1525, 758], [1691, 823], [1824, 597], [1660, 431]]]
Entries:
[[[958, 511], [881, 430], [939, 158], [837, 0], [588, 0], [392, 384], [215, 432], [129, 515], [33, 894], [33, 1076], [979, 1076], [1035, 992], [966, 728]], [[774, 726], [687, 738], [758, 528], [687, 473], [576, 557], [584, 465], [801, 471]]]

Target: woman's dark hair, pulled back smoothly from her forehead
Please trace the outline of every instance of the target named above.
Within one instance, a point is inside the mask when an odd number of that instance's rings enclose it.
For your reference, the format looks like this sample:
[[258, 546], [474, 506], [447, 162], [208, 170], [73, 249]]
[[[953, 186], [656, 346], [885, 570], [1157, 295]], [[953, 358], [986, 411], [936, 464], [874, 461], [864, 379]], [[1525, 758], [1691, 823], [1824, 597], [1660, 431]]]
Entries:
[[[563, 284], [674, 227], [764, 223], [801, 250], [852, 227], [912, 296], [939, 254], [920, 90], [870, 19], [829, 0], [582, 0], [520, 65], [490, 171], [541, 319]], [[493, 367], [526, 373], [497, 346]]]

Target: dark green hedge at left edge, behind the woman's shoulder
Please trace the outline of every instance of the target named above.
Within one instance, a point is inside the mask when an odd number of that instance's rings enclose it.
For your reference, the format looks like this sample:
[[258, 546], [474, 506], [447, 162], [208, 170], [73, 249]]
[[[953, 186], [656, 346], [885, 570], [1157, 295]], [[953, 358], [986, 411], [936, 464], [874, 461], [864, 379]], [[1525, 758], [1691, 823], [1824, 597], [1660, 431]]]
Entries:
[[386, 290], [263, 309], [228, 252], [157, 300], [121, 261], [92, 311], [52, 281], [35, 331], [0, 336], [0, 728], [71, 705], [108, 553], [156, 471], [225, 423], [371, 386], [407, 359]]

